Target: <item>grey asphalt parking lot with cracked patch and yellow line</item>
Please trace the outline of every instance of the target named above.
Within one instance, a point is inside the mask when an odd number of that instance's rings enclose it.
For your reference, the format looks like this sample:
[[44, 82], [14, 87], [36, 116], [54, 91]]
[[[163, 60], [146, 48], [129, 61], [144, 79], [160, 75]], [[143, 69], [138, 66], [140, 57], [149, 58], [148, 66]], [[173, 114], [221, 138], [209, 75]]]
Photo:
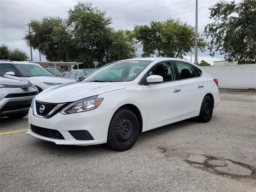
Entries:
[[140, 134], [125, 152], [58, 146], [0, 119], [0, 191], [256, 191], [256, 91], [220, 90], [206, 124]]

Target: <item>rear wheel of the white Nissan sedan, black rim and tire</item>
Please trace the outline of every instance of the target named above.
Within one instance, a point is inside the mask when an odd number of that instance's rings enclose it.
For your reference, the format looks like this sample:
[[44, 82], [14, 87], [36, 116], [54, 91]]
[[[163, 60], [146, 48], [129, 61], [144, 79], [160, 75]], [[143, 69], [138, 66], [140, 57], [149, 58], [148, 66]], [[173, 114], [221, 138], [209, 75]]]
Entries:
[[199, 116], [197, 117], [197, 120], [203, 123], [209, 122], [212, 118], [212, 110], [212, 100], [209, 96], [206, 95], [202, 101], [200, 113]]

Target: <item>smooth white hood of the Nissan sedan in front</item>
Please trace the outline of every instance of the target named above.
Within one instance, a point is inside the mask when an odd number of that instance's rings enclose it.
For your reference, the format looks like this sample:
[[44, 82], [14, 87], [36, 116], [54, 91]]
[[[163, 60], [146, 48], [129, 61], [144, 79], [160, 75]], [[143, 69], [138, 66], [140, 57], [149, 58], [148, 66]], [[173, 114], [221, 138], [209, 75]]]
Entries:
[[36, 96], [47, 103], [74, 102], [90, 96], [126, 88], [128, 82], [72, 82], [48, 88]]

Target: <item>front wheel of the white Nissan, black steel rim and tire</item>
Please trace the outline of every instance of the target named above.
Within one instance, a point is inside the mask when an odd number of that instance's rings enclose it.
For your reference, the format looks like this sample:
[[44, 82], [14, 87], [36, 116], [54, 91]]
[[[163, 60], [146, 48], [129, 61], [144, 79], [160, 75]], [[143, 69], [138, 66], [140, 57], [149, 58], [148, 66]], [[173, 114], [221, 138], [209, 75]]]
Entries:
[[128, 108], [120, 108], [110, 121], [106, 146], [115, 151], [129, 150], [136, 143], [139, 131], [136, 114]]

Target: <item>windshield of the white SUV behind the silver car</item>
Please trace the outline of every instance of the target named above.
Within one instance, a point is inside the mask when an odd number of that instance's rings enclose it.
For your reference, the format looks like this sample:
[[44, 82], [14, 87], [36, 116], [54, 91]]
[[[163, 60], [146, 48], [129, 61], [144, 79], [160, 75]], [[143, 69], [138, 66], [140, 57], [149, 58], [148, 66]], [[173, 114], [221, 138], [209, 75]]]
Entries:
[[40, 65], [34, 64], [14, 64], [26, 77], [31, 76], [54, 76], [50, 71]]

